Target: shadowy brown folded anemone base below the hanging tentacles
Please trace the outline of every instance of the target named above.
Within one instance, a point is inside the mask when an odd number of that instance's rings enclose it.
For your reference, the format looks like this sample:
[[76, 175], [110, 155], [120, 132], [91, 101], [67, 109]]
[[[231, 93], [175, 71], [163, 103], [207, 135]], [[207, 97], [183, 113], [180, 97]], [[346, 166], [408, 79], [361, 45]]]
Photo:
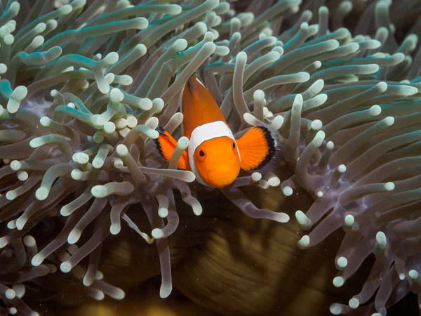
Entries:
[[[281, 180], [288, 178], [289, 169], [283, 166], [278, 176]], [[180, 226], [170, 237], [176, 290], [166, 300], [159, 298], [158, 291], [148, 291], [149, 283], [145, 285], [151, 278], [159, 280], [156, 246], [123, 227], [120, 235], [107, 238], [100, 270], [107, 282], [126, 291], [126, 298], [82, 303], [81, 296], [64, 295], [57, 296], [56, 301], [67, 308], [73, 306], [69, 315], [76, 316], [143, 316], [154, 309], [160, 312], [150, 315], [217, 315], [208, 312], [212, 310], [220, 315], [313, 316], [328, 315], [331, 303], [346, 303], [341, 297], [357, 293], [359, 281], [365, 279], [362, 275], [350, 279], [342, 289], [332, 284], [341, 231], [313, 249], [298, 249], [302, 232], [293, 214], [311, 206], [312, 197], [307, 192], [297, 190], [293, 196], [284, 197], [279, 187], [247, 190], [246, 195], [259, 208], [284, 211], [291, 216], [290, 223], [254, 220], [220, 192], [202, 192], [199, 200], [203, 214], [194, 216], [185, 206], [179, 212]], [[130, 209], [128, 215], [141, 230], [148, 230], [142, 210]], [[54, 279], [48, 283], [50, 287], [58, 284]], [[181, 296], [177, 291], [189, 301], [178, 301]], [[178, 308], [182, 314], [177, 313]]]

